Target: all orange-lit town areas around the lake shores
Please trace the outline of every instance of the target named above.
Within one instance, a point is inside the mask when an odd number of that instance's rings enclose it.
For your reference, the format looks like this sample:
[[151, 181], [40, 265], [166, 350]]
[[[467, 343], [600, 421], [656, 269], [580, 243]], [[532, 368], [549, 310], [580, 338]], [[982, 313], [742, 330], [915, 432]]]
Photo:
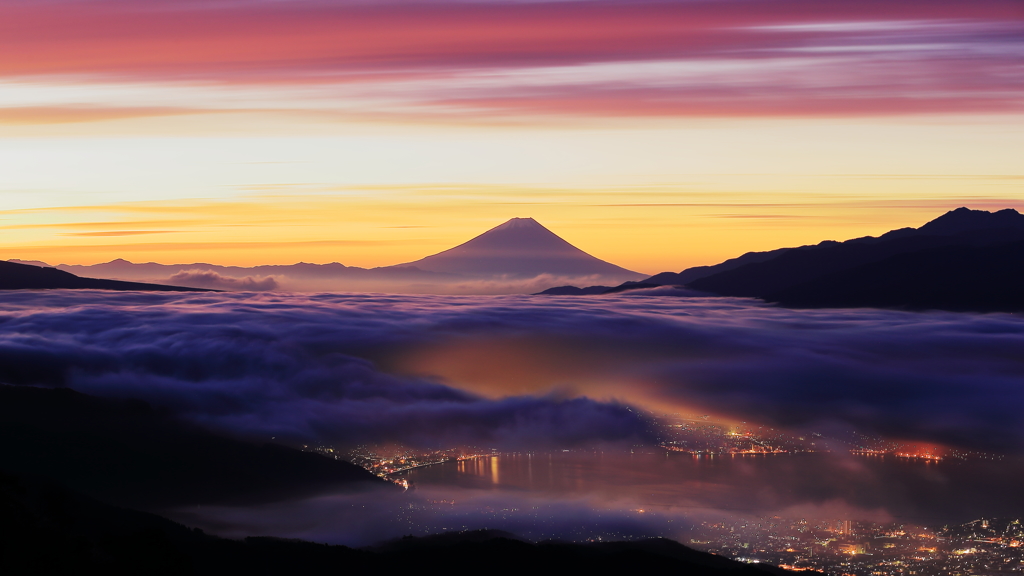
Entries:
[[[687, 452], [696, 457], [724, 455], [773, 455], [801, 452], [849, 451], [857, 456], [896, 457], [927, 465], [945, 458], [957, 460], [998, 459], [980, 452], [944, 449], [913, 443], [887, 441], [862, 435], [837, 439], [820, 434], [794, 436], [768, 426], [730, 425], [701, 416], [677, 414], [653, 418], [659, 437], [657, 448], [637, 446], [631, 450], [664, 449]], [[408, 472], [415, 468], [512, 456], [497, 449], [460, 447], [416, 450], [404, 446], [357, 446], [349, 450], [306, 447], [326, 456], [351, 461], [380, 478], [410, 488]], [[569, 450], [557, 452], [570, 452]], [[468, 462], [467, 462], [468, 463]], [[494, 462], [492, 462], [494, 465]], [[460, 469], [462, 469], [460, 467]], [[455, 501], [427, 500], [417, 508], [452, 507]], [[638, 515], [653, 510], [637, 509]], [[544, 528], [543, 515], [522, 509], [495, 509], [495, 519], [537, 516], [538, 531], [523, 535], [535, 539], [556, 537]], [[655, 512], [656, 513], [656, 512]], [[426, 518], [424, 516], [423, 518]], [[465, 529], [460, 525], [406, 520], [417, 531], [443, 532]], [[667, 521], [671, 522], [671, 521]], [[669, 525], [667, 525], [669, 526]], [[678, 526], [678, 525], [677, 525]], [[706, 551], [754, 564], [778, 566], [792, 571], [817, 571], [835, 576], [967, 576], [1024, 574], [1024, 524], [1020, 520], [979, 519], [959, 525], [925, 526], [905, 523], [879, 524], [850, 519], [830, 521], [781, 517], [702, 521], [693, 523], [677, 538]], [[580, 526], [558, 537], [578, 540], [635, 539], [642, 535]]]

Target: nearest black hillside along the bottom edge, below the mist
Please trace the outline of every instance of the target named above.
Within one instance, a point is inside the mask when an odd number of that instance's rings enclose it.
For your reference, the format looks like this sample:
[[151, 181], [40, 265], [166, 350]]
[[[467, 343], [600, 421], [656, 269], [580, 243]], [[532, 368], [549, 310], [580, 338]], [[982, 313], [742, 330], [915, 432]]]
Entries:
[[498, 532], [407, 537], [365, 549], [276, 538], [227, 540], [156, 515], [0, 474], [0, 574], [319, 575], [485, 570], [765, 576], [784, 574], [670, 540], [532, 544]]

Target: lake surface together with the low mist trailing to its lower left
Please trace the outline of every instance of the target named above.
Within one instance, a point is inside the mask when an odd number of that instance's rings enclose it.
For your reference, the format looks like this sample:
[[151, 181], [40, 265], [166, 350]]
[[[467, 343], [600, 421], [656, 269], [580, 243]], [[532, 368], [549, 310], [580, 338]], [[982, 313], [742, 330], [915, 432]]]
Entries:
[[845, 454], [503, 454], [406, 472], [402, 494], [326, 495], [257, 507], [171, 510], [228, 536], [366, 545], [407, 534], [502, 529], [544, 539], [668, 537], [701, 522], [767, 517], [929, 526], [1024, 516], [1024, 462], [923, 462]]

